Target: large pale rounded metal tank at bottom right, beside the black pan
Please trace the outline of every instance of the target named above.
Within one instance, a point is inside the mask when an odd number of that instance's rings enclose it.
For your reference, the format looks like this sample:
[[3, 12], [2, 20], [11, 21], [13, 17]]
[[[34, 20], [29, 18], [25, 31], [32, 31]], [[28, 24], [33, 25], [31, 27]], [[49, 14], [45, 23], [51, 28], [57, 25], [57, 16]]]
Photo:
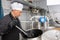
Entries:
[[43, 33], [41, 36], [42, 40], [60, 40], [60, 31], [59, 30], [49, 30]]

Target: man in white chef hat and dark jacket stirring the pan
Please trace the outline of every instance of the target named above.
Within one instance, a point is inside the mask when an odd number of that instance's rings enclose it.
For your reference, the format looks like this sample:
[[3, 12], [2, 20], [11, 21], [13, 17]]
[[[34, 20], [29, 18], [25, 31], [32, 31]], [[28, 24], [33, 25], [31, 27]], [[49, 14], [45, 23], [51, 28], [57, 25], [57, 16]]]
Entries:
[[21, 16], [23, 4], [13, 2], [11, 8], [12, 11], [10, 14], [0, 20], [0, 34], [2, 34], [2, 40], [19, 40], [20, 31], [15, 25], [21, 28], [21, 24], [17, 17]]

